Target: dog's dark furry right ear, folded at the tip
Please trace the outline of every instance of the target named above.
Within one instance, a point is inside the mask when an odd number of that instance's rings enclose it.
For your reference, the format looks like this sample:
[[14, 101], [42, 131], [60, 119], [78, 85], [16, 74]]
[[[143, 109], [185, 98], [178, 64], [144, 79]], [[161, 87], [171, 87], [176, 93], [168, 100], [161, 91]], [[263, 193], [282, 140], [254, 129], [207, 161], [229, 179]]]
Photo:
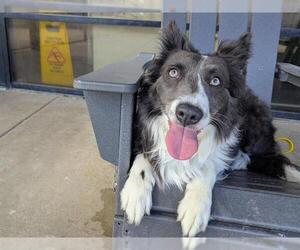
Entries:
[[237, 40], [221, 41], [217, 55], [227, 58], [232, 65], [246, 73], [248, 59], [251, 57], [251, 33], [243, 33]]

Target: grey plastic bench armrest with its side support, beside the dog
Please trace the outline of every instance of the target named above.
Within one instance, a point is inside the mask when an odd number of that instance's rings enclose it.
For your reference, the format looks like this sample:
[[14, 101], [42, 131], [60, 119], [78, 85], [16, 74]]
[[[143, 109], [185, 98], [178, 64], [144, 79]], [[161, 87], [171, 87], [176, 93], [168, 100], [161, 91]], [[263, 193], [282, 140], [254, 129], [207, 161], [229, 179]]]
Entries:
[[103, 159], [128, 168], [135, 93], [143, 66], [153, 54], [141, 53], [75, 79], [83, 90], [99, 152]]

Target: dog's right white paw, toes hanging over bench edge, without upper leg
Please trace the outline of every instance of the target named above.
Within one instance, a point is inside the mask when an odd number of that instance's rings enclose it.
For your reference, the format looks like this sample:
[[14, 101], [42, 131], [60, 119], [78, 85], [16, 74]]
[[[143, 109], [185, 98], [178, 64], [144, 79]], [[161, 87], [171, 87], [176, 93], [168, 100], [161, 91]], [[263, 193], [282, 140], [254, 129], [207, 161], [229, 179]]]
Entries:
[[193, 237], [205, 231], [211, 210], [211, 196], [199, 198], [196, 190], [187, 192], [177, 208], [177, 221], [181, 222], [184, 236]]

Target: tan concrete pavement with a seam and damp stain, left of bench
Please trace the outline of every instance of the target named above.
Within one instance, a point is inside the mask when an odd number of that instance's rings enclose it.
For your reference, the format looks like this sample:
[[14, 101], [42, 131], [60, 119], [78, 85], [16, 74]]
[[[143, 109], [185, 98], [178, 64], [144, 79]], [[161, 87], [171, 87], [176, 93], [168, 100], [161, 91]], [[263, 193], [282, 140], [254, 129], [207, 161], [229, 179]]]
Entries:
[[111, 236], [113, 176], [82, 97], [0, 91], [0, 237]]

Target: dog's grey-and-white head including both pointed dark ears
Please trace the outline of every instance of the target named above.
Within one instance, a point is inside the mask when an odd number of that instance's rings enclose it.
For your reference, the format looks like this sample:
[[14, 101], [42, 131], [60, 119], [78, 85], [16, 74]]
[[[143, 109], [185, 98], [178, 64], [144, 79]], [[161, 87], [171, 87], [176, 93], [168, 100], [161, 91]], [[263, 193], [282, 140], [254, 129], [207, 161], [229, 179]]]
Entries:
[[163, 31], [154, 85], [169, 121], [197, 131], [209, 124], [225, 128], [224, 117], [244, 88], [249, 50], [247, 33], [221, 43], [213, 54], [201, 55], [171, 23]]

